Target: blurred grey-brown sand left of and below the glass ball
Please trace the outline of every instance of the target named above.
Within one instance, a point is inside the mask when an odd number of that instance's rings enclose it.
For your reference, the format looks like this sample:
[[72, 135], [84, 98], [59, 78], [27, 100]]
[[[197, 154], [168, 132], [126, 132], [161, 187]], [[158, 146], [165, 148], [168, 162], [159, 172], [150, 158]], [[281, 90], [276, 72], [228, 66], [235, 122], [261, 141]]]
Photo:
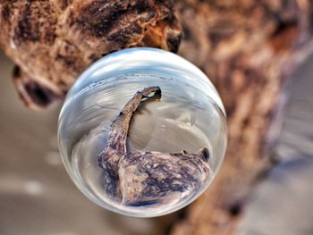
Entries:
[[25, 108], [0, 54], [0, 234], [159, 234], [161, 219], [110, 213], [84, 197], [61, 162], [56, 127], [60, 110]]

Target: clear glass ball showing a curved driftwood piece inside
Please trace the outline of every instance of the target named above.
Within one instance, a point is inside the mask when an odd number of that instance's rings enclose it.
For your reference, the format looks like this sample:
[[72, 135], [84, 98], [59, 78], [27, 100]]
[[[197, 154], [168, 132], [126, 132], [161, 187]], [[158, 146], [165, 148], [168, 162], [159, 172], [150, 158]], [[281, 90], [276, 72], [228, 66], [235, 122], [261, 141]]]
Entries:
[[173, 53], [131, 48], [84, 71], [64, 101], [59, 148], [98, 206], [152, 217], [189, 205], [223, 162], [224, 106], [207, 76]]

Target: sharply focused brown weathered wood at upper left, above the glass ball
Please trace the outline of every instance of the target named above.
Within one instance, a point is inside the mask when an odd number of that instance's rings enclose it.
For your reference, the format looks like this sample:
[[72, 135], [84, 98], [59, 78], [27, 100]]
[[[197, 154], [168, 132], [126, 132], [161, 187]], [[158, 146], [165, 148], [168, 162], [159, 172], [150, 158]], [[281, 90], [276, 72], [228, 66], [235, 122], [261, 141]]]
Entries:
[[62, 99], [81, 71], [133, 46], [177, 51], [181, 29], [165, 1], [0, 0], [0, 47], [25, 105]]

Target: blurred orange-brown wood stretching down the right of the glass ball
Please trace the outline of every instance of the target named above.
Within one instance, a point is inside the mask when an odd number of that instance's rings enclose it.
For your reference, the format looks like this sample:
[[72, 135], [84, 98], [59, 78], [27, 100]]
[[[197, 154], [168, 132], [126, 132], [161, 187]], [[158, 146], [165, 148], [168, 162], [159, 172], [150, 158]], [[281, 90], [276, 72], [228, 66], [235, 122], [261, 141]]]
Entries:
[[172, 234], [233, 234], [250, 191], [275, 164], [270, 131], [284, 84], [313, 51], [312, 1], [180, 1], [181, 55], [214, 81], [229, 145], [211, 188]]

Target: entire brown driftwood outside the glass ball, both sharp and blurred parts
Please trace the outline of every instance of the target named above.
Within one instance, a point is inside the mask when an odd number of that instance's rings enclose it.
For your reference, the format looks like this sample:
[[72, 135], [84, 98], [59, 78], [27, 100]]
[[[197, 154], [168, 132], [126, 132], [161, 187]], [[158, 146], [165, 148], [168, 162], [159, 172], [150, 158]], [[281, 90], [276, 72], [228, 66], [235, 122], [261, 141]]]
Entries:
[[[116, 2], [116, 3], [115, 3]], [[173, 234], [233, 234], [251, 189], [275, 163], [275, 122], [284, 85], [313, 51], [309, 0], [0, 2], [0, 46], [21, 69], [27, 105], [62, 98], [89, 63], [115, 50], [156, 46], [195, 63], [216, 85], [228, 114], [229, 147], [207, 192]]]

